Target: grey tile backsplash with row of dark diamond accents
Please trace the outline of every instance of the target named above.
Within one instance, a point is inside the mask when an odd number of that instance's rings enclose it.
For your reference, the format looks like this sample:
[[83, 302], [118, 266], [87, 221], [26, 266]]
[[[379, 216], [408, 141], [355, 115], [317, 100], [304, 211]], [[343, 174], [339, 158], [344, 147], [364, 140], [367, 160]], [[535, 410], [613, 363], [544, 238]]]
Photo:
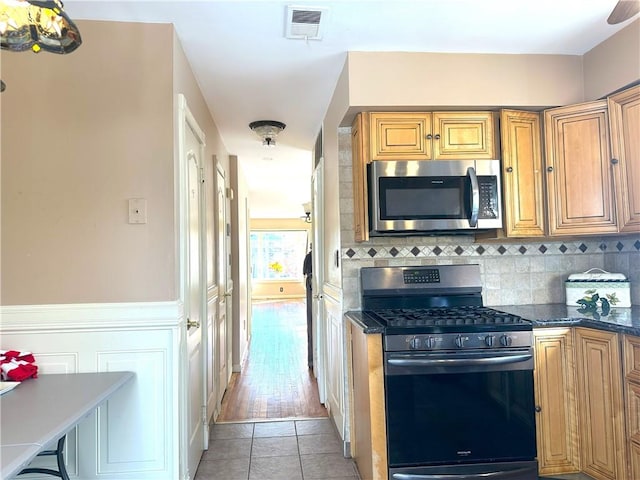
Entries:
[[[485, 305], [564, 303], [564, 282], [571, 273], [601, 268], [624, 273], [631, 300], [640, 304], [640, 238], [580, 241], [472, 243], [459, 237], [374, 239], [342, 250], [343, 301], [360, 308], [360, 268], [397, 265], [477, 263]], [[380, 243], [379, 241], [382, 241]]]

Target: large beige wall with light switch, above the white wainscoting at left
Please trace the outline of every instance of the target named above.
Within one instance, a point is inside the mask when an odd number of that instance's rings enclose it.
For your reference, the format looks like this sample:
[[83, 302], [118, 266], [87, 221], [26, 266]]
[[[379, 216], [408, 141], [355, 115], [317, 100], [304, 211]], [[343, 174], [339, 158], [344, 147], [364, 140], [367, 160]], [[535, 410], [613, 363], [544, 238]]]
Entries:
[[78, 26], [70, 55], [2, 52], [2, 304], [175, 298], [172, 27]]

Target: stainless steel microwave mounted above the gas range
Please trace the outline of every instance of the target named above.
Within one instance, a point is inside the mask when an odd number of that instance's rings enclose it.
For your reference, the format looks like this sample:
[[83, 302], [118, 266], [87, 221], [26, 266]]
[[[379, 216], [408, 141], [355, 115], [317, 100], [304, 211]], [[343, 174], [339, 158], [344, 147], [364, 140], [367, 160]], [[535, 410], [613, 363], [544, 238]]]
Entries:
[[499, 160], [374, 161], [370, 235], [502, 228]]

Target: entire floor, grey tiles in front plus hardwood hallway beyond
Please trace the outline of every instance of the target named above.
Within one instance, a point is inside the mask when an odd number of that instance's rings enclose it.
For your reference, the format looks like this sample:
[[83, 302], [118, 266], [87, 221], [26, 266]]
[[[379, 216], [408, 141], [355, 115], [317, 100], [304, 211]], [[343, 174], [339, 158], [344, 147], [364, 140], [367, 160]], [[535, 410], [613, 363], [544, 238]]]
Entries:
[[252, 339], [195, 480], [358, 480], [307, 367], [303, 299], [254, 302]]

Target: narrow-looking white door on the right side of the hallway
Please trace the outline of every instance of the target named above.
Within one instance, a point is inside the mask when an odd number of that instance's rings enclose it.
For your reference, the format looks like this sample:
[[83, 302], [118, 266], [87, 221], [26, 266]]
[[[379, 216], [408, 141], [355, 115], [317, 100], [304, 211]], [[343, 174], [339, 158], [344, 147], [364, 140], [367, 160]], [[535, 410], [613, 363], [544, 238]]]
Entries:
[[318, 379], [318, 393], [320, 402], [327, 403], [326, 388], [326, 357], [327, 357], [327, 328], [324, 324], [326, 318], [324, 312], [324, 301], [322, 299], [322, 286], [324, 284], [324, 210], [323, 210], [323, 175], [324, 175], [324, 158], [320, 158], [318, 164], [311, 175], [311, 193], [313, 224], [313, 248], [312, 264], [313, 276], [311, 277], [311, 285], [313, 290], [313, 335], [315, 338], [313, 370]]

